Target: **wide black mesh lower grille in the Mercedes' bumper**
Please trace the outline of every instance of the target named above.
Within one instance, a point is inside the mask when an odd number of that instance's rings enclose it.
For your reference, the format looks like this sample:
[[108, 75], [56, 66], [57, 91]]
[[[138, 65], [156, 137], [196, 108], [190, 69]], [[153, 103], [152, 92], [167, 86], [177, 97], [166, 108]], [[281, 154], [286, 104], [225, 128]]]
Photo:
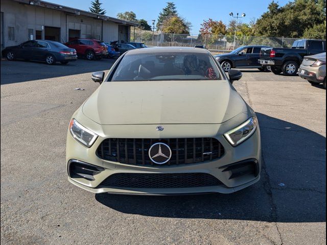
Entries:
[[120, 188], [194, 188], [222, 185], [217, 178], [205, 173], [182, 174], [113, 174], [102, 187]]

